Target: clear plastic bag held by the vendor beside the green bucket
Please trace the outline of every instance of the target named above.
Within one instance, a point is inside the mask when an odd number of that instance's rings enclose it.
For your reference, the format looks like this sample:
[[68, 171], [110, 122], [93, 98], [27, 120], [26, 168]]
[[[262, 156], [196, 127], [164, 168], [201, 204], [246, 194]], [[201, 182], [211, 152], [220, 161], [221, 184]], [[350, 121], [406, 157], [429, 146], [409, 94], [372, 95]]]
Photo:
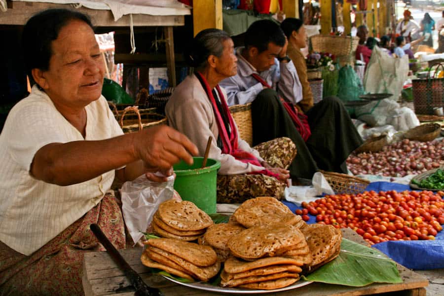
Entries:
[[122, 185], [122, 214], [126, 227], [135, 243], [151, 224], [159, 205], [173, 198], [174, 176], [167, 182], [152, 182], [144, 175]]

